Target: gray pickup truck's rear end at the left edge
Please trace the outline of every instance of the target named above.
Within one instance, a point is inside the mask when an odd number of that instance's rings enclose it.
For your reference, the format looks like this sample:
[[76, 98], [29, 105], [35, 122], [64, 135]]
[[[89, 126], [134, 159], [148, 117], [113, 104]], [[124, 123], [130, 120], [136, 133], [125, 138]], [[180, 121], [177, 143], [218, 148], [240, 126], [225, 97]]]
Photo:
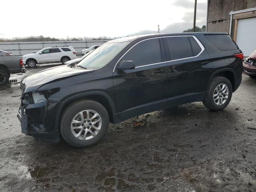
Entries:
[[21, 56], [0, 57], [0, 85], [4, 85], [9, 82], [10, 74], [25, 72]]

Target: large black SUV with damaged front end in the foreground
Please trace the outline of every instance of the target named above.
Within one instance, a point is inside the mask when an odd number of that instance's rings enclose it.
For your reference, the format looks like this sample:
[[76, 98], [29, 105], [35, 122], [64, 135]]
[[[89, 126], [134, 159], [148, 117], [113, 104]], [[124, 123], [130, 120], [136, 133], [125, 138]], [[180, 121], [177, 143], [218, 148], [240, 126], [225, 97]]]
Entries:
[[22, 132], [96, 144], [109, 122], [189, 102], [224, 109], [242, 80], [243, 54], [226, 33], [153, 34], [106, 42], [78, 64], [24, 78]]

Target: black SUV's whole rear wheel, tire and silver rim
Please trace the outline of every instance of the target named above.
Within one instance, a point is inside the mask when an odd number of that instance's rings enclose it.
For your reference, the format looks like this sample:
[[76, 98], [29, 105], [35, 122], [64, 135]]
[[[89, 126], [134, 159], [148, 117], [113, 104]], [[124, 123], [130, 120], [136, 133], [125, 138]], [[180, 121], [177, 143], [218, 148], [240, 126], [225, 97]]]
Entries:
[[[225, 88], [227, 89], [225, 90]], [[218, 92], [217, 90], [220, 91]], [[206, 100], [203, 101], [203, 104], [208, 109], [213, 111], [223, 110], [226, 106], [228, 106], [232, 97], [232, 92], [232, 84], [227, 78], [214, 77], [210, 82], [209, 91]]]

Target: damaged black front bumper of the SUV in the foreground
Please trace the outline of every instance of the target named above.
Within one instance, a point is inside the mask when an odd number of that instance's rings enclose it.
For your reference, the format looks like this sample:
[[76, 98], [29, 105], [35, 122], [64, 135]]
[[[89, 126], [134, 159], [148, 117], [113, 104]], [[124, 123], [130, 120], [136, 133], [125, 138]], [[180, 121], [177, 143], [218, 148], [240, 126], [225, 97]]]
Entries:
[[60, 104], [50, 101], [28, 104], [23, 100], [17, 114], [22, 133], [40, 140], [59, 142], [59, 130], [55, 123]]

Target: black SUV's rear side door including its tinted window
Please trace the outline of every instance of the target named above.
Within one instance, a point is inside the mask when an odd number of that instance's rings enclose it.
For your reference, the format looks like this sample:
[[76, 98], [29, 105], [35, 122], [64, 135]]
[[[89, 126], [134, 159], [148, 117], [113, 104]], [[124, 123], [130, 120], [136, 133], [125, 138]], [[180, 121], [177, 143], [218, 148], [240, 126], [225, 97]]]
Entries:
[[169, 104], [204, 97], [212, 73], [209, 55], [194, 36], [164, 37], [168, 65]]

